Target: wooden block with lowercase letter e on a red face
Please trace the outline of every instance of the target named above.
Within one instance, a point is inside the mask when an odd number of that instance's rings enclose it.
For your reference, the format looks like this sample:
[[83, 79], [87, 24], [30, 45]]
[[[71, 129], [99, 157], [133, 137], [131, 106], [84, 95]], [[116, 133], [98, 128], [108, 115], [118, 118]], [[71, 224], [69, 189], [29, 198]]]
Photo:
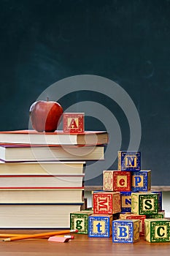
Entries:
[[120, 170], [104, 170], [103, 189], [105, 191], [131, 191], [131, 173]]

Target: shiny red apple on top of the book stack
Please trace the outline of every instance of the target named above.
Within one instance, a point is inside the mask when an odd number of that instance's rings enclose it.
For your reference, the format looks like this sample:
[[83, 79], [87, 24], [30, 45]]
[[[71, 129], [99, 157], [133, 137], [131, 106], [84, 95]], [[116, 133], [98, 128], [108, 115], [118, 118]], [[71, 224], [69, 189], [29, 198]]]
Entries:
[[63, 114], [58, 102], [39, 100], [30, 107], [31, 124], [37, 132], [54, 132]]

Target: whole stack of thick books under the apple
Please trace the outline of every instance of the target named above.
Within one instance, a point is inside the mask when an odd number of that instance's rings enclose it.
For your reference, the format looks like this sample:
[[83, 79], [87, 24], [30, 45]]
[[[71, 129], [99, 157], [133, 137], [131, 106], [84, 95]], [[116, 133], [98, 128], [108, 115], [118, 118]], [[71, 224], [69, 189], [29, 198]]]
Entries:
[[0, 228], [68, 228], [85, 162], [104, 159], [107, 142], [107, 132], [0, 132]]

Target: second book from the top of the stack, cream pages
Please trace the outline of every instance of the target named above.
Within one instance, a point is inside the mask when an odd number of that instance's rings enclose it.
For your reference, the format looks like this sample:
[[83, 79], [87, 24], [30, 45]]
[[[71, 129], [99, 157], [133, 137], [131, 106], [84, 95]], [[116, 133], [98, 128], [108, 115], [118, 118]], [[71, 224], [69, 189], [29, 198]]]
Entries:
[[1, 144], [0, 159], [5, 162], [82, 161], [104, 159], [104, 146], [33, 146]]

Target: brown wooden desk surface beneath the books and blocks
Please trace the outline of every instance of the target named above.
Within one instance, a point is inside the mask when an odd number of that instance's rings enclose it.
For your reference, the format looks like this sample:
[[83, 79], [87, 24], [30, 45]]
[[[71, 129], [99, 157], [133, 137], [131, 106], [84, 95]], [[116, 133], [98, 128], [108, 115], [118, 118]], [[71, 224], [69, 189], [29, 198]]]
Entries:
[[[41, 233], [54, 230], [0, 230], [0, 233]], [[135, 244], [113, 244], [112, 238], [88, 238], [74, 235], [67, 243], [47, 241], [45, 238], [4, 242], [1, 241], [1, 256], [72, 256], [80, 255], [154, 255], [169, 256], [170, 242], [150, 244], [141, 237]]]

